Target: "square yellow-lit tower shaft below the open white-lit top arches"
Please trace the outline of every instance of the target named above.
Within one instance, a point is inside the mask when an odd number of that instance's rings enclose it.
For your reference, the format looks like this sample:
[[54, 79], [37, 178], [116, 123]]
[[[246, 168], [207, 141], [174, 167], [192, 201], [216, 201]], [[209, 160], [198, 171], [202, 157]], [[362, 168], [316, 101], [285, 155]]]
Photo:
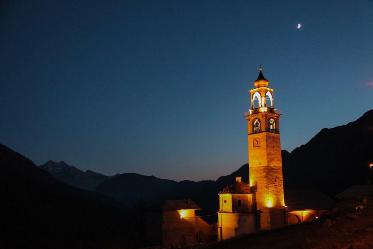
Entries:
[[[279, 114], [256, 113], [247, 116], [250, 186], [257, 188], [256, 205], [261, 210], [260, 227], [273, 229], [286, 224], [284, 206], [280, 134], [269, 132], [268, 120], [275, 119], [279, 130]], [[253, 133], [253, 121], [259, 119], [261, 132]], [[266, 129], [267, 128], [267, 129]], [[260, 140], [260, 145], [254, 140]], [[277, 210], [277, 211], [275, 211]], [[282, 217], [282, 219], [278, 218]]]

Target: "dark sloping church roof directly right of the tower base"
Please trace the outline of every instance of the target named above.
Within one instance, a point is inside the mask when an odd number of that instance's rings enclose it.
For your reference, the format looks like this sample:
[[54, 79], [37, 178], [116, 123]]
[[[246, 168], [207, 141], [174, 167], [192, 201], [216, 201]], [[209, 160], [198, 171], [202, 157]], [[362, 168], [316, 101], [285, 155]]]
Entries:
[[313, 189], [285, 189], [285, 205], [288, 211], [329, 209], [335, 201]]

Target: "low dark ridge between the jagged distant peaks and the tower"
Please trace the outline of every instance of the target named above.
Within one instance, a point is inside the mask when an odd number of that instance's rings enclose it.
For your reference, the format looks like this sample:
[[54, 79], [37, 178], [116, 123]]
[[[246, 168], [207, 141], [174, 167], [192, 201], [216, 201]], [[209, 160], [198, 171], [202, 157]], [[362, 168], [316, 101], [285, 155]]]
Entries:
[[[134, 207], [139, 203], [149, 207], [163, 200], [189, 197], [201, 207], [201, 210], [196, 210], [199, 215], [211, 215], [219, 209], [217, 193], [227, 185], [234, 183], [236, 177], [242, 176], [242, 181], [248, 182], [248, 174], [248, 164], [241, 166], [230, 175], [219, 177], [216, 181], [176, 182], [155, 176], [125, 173], [99, 184], [94, 191], [113, 197], [129, 207]], [[205, 219], [215, 222], [216, 217]]]

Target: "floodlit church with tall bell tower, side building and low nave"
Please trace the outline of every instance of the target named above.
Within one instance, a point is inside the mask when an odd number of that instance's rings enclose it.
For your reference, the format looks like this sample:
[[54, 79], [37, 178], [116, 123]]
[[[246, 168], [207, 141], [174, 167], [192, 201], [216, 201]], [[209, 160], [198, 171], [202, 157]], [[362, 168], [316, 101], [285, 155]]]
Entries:
[[[234, 184], [219, 192], [219, 240], [317, 219], [334, 204], [321, 193], [297, 190], [285, 194], [292, 204], [285, 206], [281, 111], [274, 107], [274, 89], [268, 84], [260, 68], [255, 87], [250, 90], [251, 107], [244, 115], [248, 126], [249, 182], [236, 178]], [[303, 196], [307, 196], [307, 207], [297, 205]]]

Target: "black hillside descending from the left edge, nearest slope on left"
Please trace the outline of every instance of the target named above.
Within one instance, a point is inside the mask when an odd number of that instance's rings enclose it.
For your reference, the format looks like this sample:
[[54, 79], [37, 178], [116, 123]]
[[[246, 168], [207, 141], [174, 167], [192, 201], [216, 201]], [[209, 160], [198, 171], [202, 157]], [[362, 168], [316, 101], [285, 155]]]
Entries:
[[122, 204], [69, 186], [2, 144], [0, 182], [1, 248], [71, 248], [138, 230]]

